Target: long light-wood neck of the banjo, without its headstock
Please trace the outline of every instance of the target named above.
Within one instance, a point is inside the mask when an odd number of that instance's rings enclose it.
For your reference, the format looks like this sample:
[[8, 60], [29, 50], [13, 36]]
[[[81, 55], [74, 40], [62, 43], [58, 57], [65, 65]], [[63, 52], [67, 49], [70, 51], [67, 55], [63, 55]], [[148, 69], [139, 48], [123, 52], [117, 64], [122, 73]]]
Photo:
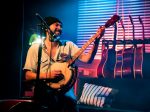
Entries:
[[81, 48], [78, 52], [75, 53], [75, 55], [68, 60], [68, 64], [71, 65], [82, 53], [83, 51], [99, 36], [100, 34], [93, 35]]

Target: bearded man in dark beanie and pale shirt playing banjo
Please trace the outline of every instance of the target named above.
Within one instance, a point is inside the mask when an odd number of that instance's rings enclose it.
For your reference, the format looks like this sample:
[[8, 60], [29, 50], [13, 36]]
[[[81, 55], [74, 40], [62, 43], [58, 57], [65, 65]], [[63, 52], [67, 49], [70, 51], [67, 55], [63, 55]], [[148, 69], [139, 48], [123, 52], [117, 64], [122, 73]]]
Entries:
[[[43, 40], [42, 47], [41, 47], [41, 60], [40, 60], [40, 72], [39, 72], [39, 78], [40, 79], [57, 79], [56, 82], [59, 82], [64, 78], [63, 70], [62, 68], [64, 66], [58, 64], [56, 68], [51, 68], [55, 63], [57, 62], [67, 62], [69, 59], [72, 59], [74, 54], [79, 51], [79, 48], [76, 44], [74, 44], [71, 41], [65, 41], [60, 40], [60, 35], [62, 33], [62, 22], [55, 17], [46, 17], [44, 18], [44, 21], [46, 22], [46, 28], [45, 28], [45, 39]], [[48, 26], [48, 28], [47, 28]], [[102, 29], [101, 29], [102, 30]], [[104, 31], [104, 30], [103, 30]], [[98, 34], [97, 39], [95, 40], [95, 44], [91, 50], [89, 50], [88, 53], [82, 53], [79, 55], [78, 59], [82, 62], [89, 62], [91, 59], [93, 59], [93, 55], [95, 55], [95, 51], [97, 51], [98, 43], [101, 37], [100, 35], [103, 34], [102, 31], [100, 34]], [[32, 80], [36, 79], [36, 76], [38, 75], [38, 57], [39, 57], [39, 45], [40, 44], [33, 44], [27, 53], [26, 62], [24, 66], [25, 71], [25, 78], [26, 80]], [[68, 68], [72, 67], [74, 64], [71, 63], [71, 65], [68, 66]], [[71, 70], [71, 69], [69, 69]], [[68, 73], [68, 72], [66, 72]], [[70, 72], [69, 72], [70, 73]], [[72, 73], [72, 72], [71, 72]], [[61, 77], [62, 76], [62, 77]], [[46, 83], [47, 86], [49, 86], [51, 89], [51, 92], [47, 92], [48, 94], [42, 94], [41, 88], [38, 91], [41, 98], [39, 98], [43, 104], [48, 105], [49, 110], [52, 112], [77, 112], [78, 109], [76, 108], [76, 99], [75, 95], [72, 95], [73, 89], [69, 89], [64, 94], [55, 94], [53, 92], [53, 85], [57, 88], [57, 83], [48, 82]], [[63, 85], [65, 85], [64, 83]], [[47, 89], [47, 86], [45, 87]], [[71, 93], [71, 94], [70, 94]], [[45, 97], [45, 98], [44, 98]]]

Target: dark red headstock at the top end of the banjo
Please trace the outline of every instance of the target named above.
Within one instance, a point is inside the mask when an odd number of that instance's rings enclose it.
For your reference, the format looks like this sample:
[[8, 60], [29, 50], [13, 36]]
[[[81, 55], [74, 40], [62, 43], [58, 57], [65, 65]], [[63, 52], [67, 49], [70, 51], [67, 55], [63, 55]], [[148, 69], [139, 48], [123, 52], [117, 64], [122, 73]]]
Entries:
[[106, 23], [105, 27], [108, 28], [109, 26], [113, 25], [116, 23], [118, 20], [120, 20], [120, 16], [118, 15], [113, 15]]

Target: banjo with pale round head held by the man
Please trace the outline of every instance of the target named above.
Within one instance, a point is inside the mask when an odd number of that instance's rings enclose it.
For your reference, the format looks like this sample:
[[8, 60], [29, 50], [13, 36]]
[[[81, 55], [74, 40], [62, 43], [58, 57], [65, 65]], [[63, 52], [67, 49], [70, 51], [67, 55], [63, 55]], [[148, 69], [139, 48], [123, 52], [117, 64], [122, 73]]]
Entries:
[[113, 25], [115, 22], [119, 20], [118, 15], [113, 15], [111, 19], [109, 19], [104, 26], [100, 27], [96, 34], [94, 34], [75, 55], [69, 59], [67, 62], [56, 62], [51, 65], [51, 71], [53, 70], [61, 70], [63, 77], [58, 81], [52, 81], [52, 79], [45, 79], [46, 82], [50, 82], [50, 88], [58, 91], [58, 92], [66, 92], [68, 91], [75, 83], [77, 78], [77, 67], [72, 67], [72, 64], [75, 60], [83, 53], [83, 51], [97, 38], [101, 38], [101, 33], [105, 28]]

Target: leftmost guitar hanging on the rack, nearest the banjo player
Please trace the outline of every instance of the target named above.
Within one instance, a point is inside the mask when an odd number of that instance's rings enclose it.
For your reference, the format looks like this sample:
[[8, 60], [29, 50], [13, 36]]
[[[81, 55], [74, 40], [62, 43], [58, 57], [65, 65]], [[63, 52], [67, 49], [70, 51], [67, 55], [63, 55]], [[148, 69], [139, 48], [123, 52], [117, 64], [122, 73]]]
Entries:
[[114, 67], [116, 63], [116, 36], [117, 36], [117, 24], [114, 24], [114, 42], [113, 47], [108, 49], [107, 59], [103, 65], [103, 76], [108, 78], [114, 77]]

